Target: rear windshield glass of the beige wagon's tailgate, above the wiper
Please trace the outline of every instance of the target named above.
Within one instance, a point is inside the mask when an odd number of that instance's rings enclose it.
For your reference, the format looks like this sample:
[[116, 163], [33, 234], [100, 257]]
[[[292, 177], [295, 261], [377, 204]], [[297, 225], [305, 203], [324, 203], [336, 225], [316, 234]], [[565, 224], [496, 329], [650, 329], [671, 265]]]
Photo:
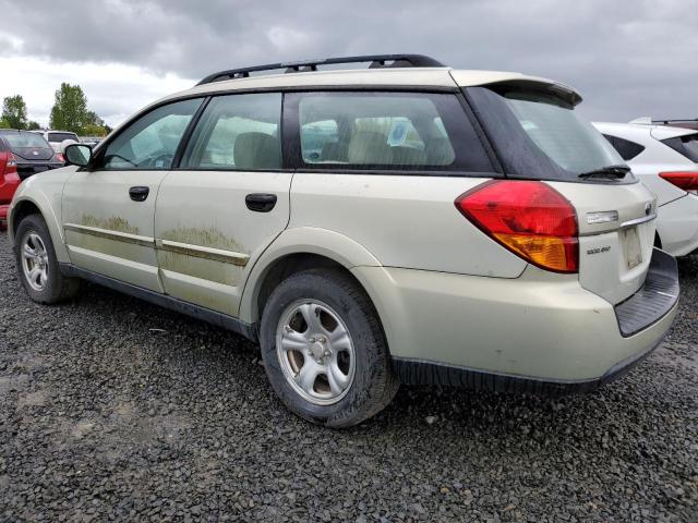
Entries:
[[623, 158], [574, 108], [541, 94], [513, 92], [507, 105], [535, 145], [567, 171], [582, 173], [623, 165]]

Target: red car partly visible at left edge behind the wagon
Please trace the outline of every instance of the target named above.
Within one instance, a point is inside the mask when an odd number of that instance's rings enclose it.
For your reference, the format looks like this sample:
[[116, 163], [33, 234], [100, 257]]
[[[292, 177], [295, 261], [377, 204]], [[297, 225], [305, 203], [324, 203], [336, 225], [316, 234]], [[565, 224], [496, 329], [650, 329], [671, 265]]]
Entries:
[[63, 165], [63, 155], [55, 153], [43, 136], [0, 129], [0, 229], [7, 226], [8, 208], [22, 180]]

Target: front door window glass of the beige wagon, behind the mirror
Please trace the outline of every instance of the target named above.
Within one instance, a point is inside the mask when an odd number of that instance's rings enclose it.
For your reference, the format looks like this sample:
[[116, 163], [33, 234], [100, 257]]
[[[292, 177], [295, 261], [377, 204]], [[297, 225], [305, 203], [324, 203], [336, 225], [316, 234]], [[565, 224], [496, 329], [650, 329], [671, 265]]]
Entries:
[[201, 98], [177, 101], [137, 119], [107, 145], [103, 168], [170, 169], [177, 147], [201, 104]]

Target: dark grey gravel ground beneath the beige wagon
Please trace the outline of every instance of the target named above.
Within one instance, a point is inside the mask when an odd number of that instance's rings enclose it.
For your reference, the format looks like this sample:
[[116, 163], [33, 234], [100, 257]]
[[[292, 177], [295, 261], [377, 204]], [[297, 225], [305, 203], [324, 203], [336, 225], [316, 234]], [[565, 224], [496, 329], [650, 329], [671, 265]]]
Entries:
[[333, 431], [255, 346], [86, 287], [35, 305], [0, 235], [0, 521], [698, 521], [698, 258], [666, 343], [545, 400], [402, 387]]

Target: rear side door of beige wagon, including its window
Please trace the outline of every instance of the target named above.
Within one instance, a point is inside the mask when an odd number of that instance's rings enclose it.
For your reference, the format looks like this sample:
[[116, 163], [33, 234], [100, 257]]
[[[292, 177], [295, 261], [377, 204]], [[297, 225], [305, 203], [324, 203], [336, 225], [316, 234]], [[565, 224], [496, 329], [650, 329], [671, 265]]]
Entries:
[[165, 292], [238, 315], [246, 272], [286, 228], [292, 171], [281, 162], [281, 94], [210, 99], [160, 186], [155, 238]]

